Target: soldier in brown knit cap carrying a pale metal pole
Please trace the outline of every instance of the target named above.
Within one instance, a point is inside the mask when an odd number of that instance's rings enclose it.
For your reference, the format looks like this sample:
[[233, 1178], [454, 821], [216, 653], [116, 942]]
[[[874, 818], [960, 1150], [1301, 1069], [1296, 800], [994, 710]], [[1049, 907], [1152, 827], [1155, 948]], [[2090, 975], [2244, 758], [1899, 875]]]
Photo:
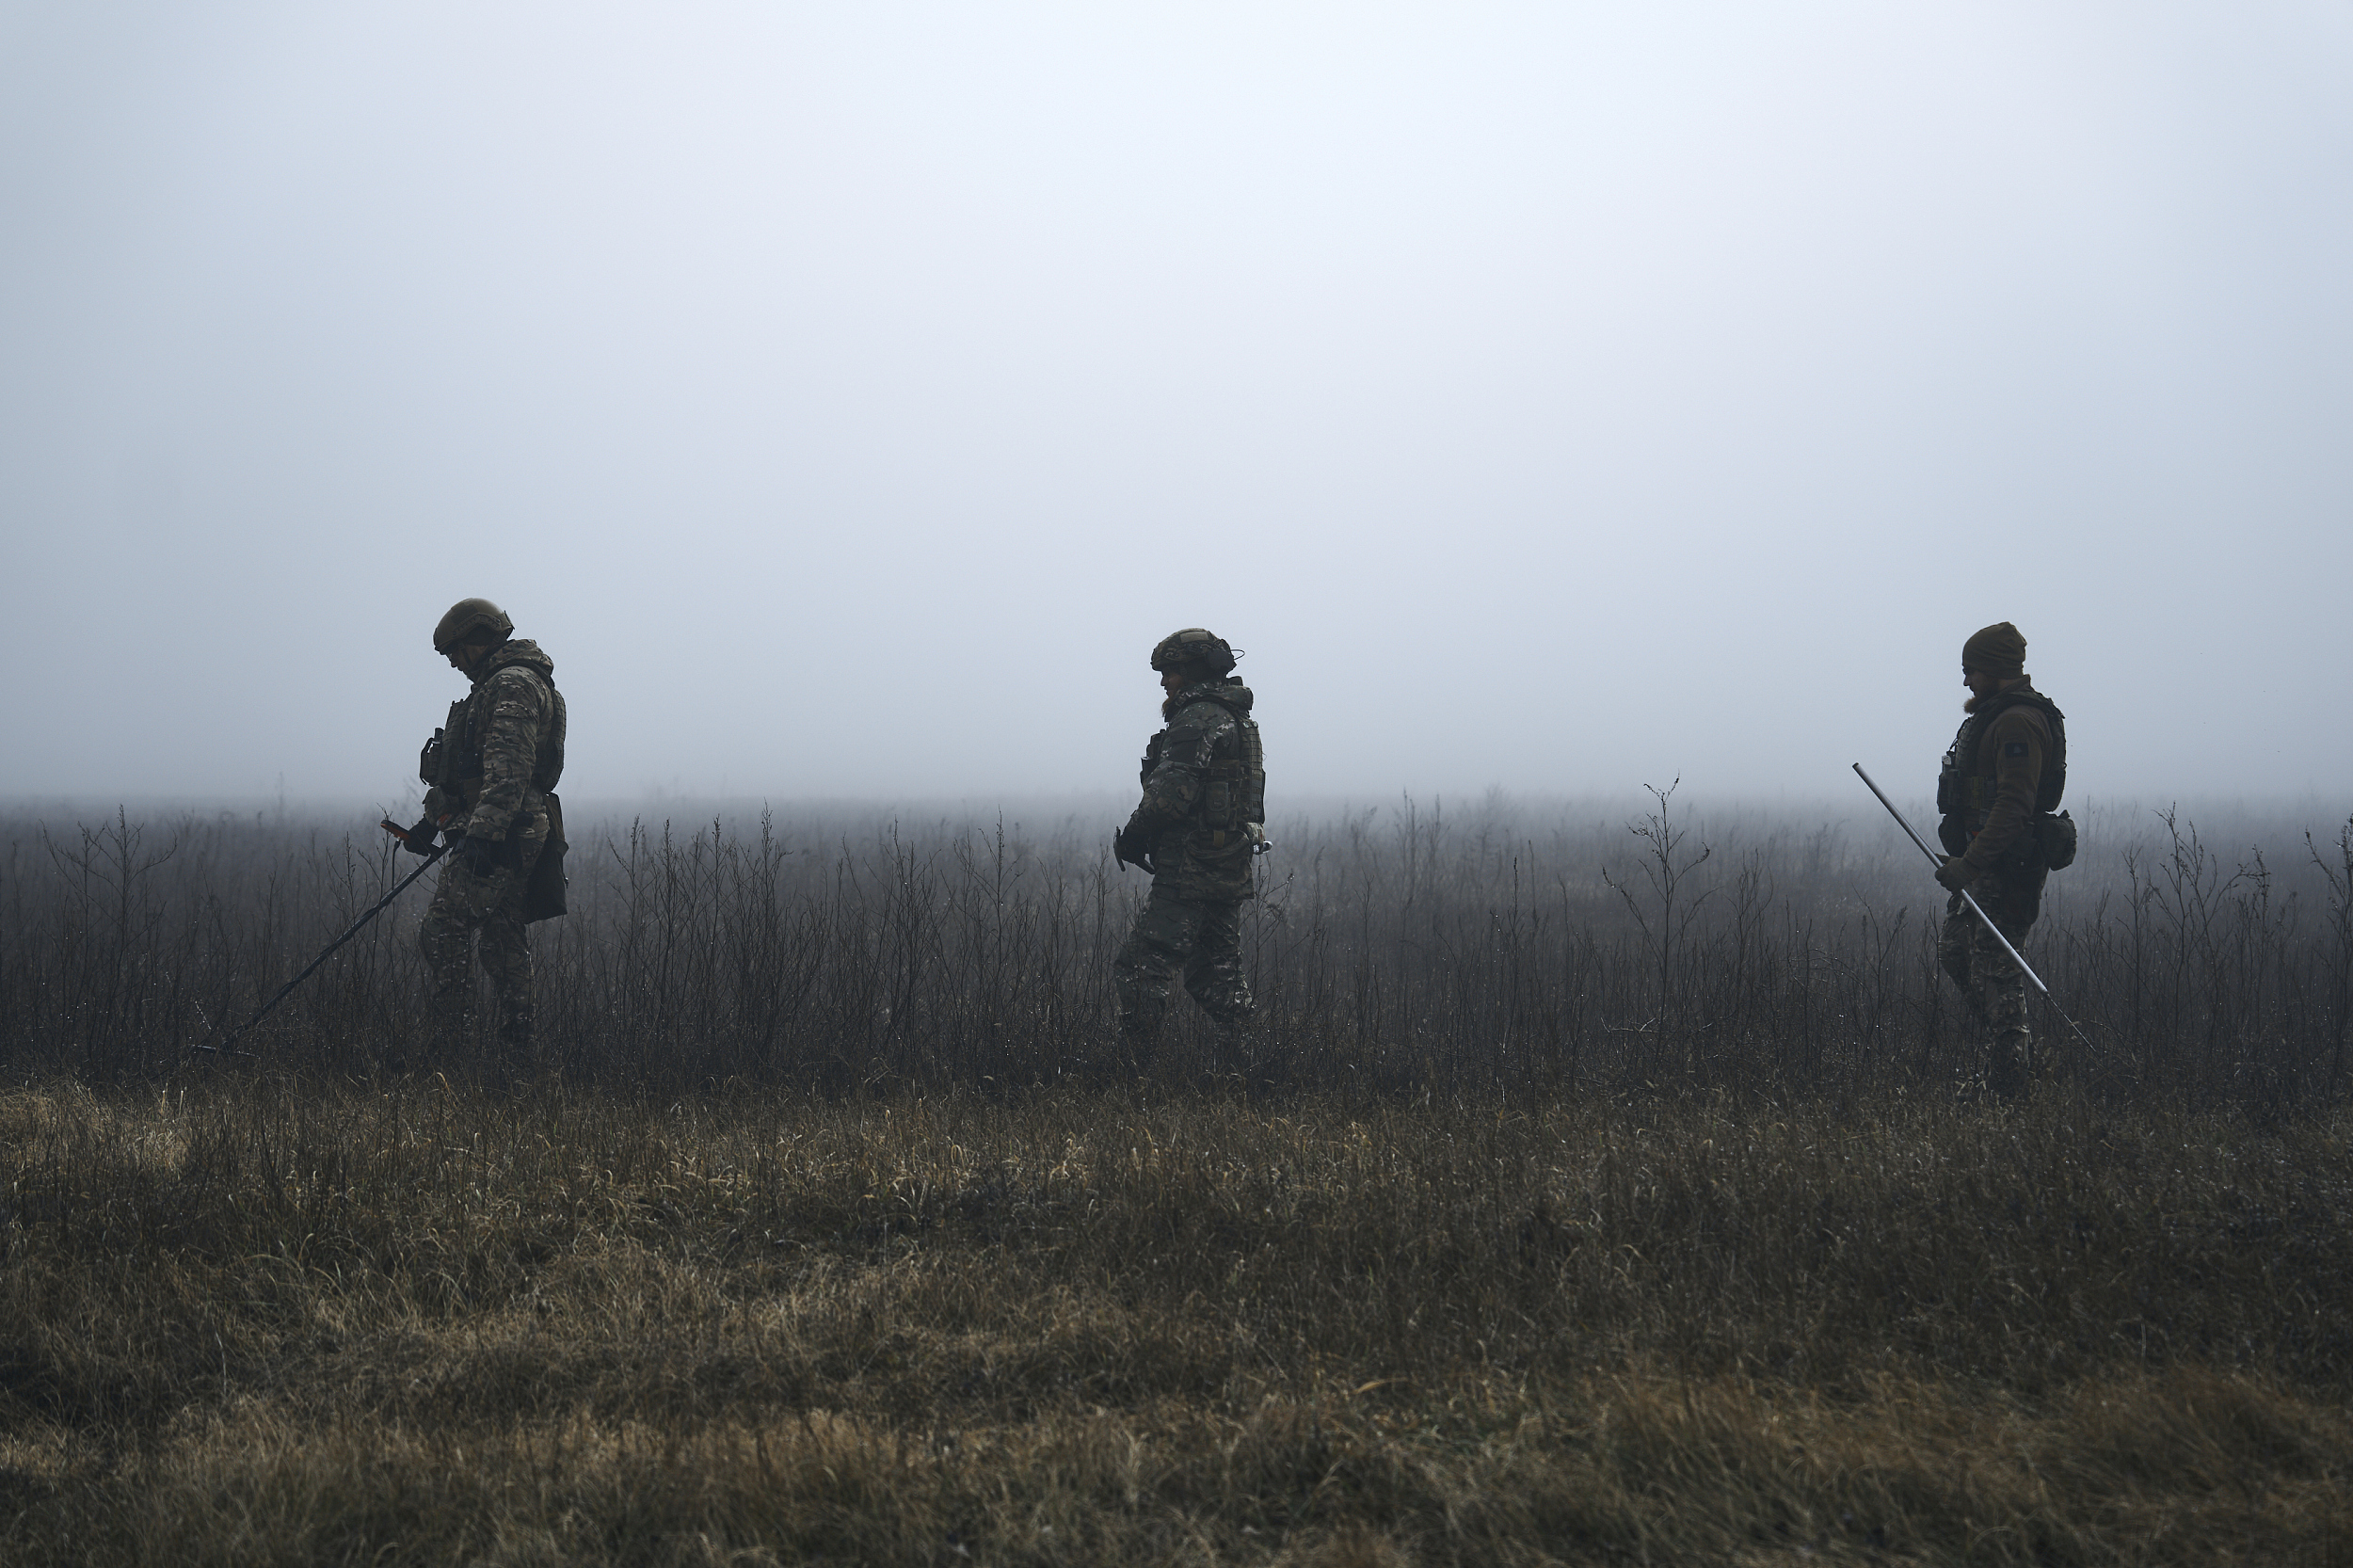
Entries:
[[1937, 779], [1937, 838], [1946, 848], [1937, 881], [1953, 892], [1937, 956], [1986, 1031], [1986, 1088], [2012, 1099], [2033, 1069], [2026, 975], [1960, 895], [1967, 890], [2026, 951], [2042, 883], [2075, 859], [2075, 824], [2052, 817], [2066, 791], [2066, 716], [2033, 687], [2026, 638], [2009, 622], [1962, 643], [1960, 678], [1969, 718]]

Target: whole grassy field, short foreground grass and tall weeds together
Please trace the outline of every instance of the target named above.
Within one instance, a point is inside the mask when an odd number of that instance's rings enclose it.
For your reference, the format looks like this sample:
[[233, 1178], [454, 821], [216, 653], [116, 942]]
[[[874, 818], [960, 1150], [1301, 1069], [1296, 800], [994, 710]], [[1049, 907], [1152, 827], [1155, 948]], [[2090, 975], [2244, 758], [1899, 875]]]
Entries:
[[2092, 836], [1995, 1107], [1885, 843], [1664, 826], [1285, 831], [1136, 1076], [1089, 824], [584, 836], [506, 1064], [416, 906], [188, 1050], [376, 845], [0, 824], [0, 1561], [2353, 1563], [2346, 841]]

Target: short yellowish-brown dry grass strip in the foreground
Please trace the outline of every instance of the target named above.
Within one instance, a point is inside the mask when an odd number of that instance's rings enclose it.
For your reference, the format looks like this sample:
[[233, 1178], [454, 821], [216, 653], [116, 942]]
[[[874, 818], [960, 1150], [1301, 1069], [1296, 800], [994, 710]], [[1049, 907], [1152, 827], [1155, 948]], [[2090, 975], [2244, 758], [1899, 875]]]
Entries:
[[0, 1099], [0, 1556], [2332, 1563], [2337, 1114]]

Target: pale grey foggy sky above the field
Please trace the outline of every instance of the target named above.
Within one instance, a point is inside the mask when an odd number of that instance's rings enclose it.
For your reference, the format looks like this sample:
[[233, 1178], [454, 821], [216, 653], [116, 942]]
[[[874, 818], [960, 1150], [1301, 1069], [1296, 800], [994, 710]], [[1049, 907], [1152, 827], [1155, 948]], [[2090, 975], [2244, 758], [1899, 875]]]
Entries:
[[2341, 793], [2344, 5], [0, 0], [0, 793]]

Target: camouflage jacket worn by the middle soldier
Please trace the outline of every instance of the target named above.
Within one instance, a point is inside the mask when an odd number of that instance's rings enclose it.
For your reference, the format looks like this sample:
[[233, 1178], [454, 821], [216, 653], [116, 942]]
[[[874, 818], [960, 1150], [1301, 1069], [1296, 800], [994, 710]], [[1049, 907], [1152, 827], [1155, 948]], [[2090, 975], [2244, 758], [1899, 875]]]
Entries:
[[1167, 730], [1144, 746], [1144, 800], [1127, 833], [1151, 845], [1153, 888], [1186, 899], [1247, 899], [1266, 822], [1266, 753], [1240, 680], [1188, 685], [1160, 704]]

